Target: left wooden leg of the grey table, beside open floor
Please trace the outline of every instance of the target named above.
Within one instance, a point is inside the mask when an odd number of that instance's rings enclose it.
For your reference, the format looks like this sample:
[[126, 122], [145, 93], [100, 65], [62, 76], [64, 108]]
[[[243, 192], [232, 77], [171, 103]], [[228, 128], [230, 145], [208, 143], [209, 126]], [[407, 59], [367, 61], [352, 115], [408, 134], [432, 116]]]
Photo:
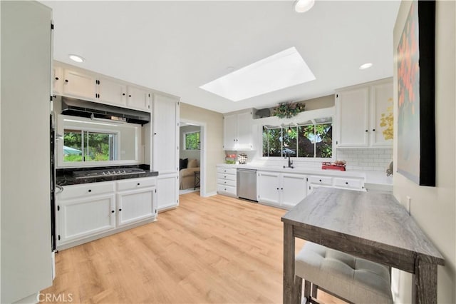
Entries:
[[294, 293], [297, 288], [294, 285], [293, 226], [284, 223], [284, 304], [296, 303], [297, 296]]

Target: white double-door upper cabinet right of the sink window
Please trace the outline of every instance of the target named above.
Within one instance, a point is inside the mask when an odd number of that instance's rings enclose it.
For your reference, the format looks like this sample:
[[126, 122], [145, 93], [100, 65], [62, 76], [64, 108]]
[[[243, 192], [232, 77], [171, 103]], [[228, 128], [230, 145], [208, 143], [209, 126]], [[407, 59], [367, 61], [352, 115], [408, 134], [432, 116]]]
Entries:
[[392, 146], [393, 140], [385, 140], [385, 128], [380, 126], [382, 117], [392, 111], [392, 98], [391, 78], [337, 91], [337, 147]]

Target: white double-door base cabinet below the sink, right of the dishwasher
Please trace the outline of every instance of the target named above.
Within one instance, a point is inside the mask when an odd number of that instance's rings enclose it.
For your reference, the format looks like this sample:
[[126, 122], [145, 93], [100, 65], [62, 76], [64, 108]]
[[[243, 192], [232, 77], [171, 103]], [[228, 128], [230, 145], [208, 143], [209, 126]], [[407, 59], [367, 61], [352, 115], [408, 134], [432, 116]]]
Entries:
[[260, 171], [257, 177], [258, 201], [280, 208], [292, 208], [306, 197], [306, 176]]

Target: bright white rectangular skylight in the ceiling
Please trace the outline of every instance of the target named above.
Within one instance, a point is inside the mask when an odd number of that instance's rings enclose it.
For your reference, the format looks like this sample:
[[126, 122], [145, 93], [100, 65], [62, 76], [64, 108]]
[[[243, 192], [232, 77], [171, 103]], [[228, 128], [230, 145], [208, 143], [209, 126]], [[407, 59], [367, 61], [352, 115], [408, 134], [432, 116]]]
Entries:
[[309, 66], [291, 47], [199, 88], [231, 101], [242, 101], [312, 80], [315, 76]]

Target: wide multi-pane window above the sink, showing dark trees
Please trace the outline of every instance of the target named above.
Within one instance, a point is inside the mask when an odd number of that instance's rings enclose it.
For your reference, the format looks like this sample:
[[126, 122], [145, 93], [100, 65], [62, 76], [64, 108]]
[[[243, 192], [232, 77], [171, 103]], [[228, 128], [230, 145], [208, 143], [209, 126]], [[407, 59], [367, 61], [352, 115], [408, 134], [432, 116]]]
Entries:
[[332, 158], [333, 118], [315, 118], [301, 123], [263, 126], [263, 156]]

